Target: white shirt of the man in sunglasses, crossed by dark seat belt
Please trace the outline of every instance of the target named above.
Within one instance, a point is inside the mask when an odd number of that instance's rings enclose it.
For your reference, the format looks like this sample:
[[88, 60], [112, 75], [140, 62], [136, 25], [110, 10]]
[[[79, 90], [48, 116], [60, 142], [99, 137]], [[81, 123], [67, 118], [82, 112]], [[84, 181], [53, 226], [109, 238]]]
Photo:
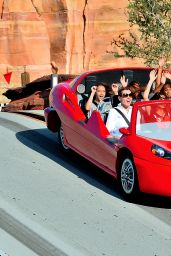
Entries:
[[[132, 114], [131, 106], [129, 107], [128, 112], [120, 104], [117, 106], [117, 108], [120, 111], [122, 111], [122, 113], [125, 115], [128, 121], [131, 120], [131, 114]], [[122, 134], [119, 132], [119, 129], [121, 127], [128, 127], [128, 124], [126, 123], [124, 118], [121, 116], [121, 114], [117, 112], [117, 110], [115, 110], [114, 108], [111, 108], [107, 118], [106, 127], [111, 135], [121, 137]]]

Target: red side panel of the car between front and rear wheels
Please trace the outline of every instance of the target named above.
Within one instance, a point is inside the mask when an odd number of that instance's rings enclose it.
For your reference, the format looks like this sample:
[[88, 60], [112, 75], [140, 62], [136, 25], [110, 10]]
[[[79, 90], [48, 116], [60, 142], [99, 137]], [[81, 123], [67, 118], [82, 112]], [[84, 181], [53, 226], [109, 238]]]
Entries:
[[106, 140], [109, 132], [98, 111], [87, 121], [74, 92], [70, 88], [58, 89], [57, 113], [62, 121], [65, 139], [70, 148], [107, 172], [114, 172], [116, 150]]

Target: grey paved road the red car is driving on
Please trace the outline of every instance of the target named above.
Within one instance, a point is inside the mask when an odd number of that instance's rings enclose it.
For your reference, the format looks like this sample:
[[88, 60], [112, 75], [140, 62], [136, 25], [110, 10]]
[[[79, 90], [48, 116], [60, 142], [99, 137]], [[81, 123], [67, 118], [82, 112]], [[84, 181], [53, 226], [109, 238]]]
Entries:
[[61, 153], [41, 121], [0, 113], [0, 141], [4, 253], [171, 256], [170, 199], [125, 202], [111, 177], [75, 153]]

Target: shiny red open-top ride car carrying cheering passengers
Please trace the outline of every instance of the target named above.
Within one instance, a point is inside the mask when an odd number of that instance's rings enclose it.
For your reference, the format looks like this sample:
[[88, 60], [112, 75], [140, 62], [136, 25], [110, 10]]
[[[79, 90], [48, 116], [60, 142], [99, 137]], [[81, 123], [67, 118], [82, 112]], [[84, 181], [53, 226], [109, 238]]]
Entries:
[[[98, 81], [112, 84], [124, 74], [146, 85], [149, 72], [125, 68], [84, 73], [52, 88], [50, 107], [44, 110], [47, 127], [58, 132], [62, 149], [76, 151], [115, 177], [127, 200], [139, 192], [171, 196], [171, 101], [134, 103], [130, 126], [121, 128], [121, 138], [112, 143], [100, 113], [95, 110], [87, 119], [81, 102]], [[159, 108], [167, 118], [160, 118]]]

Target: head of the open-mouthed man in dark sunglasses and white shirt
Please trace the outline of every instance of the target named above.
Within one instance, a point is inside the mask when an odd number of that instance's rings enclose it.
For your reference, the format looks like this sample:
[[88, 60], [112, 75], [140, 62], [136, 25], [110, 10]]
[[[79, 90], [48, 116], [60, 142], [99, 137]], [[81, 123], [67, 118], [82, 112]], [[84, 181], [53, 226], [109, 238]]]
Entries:
[[129, 108], [132, 102], [133, 94], [129, 89], [129, 86], [122, 88], [118, 92], [118, 99], [124, 108]]

